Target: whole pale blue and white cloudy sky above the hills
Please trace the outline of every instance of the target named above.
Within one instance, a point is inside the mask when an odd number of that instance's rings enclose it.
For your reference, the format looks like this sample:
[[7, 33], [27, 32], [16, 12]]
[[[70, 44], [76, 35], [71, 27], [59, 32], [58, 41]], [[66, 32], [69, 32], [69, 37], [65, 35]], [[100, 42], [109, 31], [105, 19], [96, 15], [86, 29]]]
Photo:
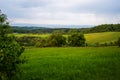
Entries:
[[120, 0], [0, 0], [11, 24], [120, 23]]

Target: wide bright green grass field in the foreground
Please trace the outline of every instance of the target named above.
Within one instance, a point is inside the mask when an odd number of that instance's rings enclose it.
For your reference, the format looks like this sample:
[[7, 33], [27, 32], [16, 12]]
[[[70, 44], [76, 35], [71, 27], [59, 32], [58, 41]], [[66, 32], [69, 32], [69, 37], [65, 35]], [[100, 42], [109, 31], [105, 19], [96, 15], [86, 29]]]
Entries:
[[120, 80], [120, 48], [26, 48], [20, 80]]

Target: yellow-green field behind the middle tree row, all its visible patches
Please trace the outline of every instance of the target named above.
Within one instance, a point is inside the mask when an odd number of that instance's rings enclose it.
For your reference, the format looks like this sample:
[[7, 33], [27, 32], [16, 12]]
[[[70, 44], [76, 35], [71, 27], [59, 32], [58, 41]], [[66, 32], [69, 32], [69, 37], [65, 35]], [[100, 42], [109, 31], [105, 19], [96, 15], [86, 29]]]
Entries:
[[[17, 37], [22, 36], [35, 36], [35, 37], [48, 37], [50, 34], [15, 34]], [[64, 35], [67, 37], [68, 35]], [[85, 34], [86, 42], [88, 44], [94, 44], [96, 42], [105, 43], [116, 41], [120, 37], [120, 32], [103, 32], [103, 33], [89, 33]]]

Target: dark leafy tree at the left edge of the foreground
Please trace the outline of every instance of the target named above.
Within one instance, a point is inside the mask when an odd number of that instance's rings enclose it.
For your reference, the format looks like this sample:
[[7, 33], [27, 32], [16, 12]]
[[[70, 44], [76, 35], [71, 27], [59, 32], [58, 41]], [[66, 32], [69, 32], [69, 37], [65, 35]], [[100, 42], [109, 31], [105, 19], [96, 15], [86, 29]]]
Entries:
[[24, 61], [20, 59], [24, 48], [21, 47], [10, 33], [7, 16], [0, 11], [0, 80], [14, 80], [18, 65]]

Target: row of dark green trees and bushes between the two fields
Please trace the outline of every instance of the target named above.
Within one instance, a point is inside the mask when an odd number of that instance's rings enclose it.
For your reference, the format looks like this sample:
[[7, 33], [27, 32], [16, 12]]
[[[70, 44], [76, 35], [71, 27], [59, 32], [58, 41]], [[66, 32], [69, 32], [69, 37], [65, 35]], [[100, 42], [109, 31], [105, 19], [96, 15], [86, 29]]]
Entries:
[[64, 37], [62, 34], [51, 34], [49, 37], [33, 37], [23, 36], [16, 37], [16, 41], [22, 46], [36, 46], [36, 47], [80, 47], [85, 46], [84, 34], [74, 33]]

